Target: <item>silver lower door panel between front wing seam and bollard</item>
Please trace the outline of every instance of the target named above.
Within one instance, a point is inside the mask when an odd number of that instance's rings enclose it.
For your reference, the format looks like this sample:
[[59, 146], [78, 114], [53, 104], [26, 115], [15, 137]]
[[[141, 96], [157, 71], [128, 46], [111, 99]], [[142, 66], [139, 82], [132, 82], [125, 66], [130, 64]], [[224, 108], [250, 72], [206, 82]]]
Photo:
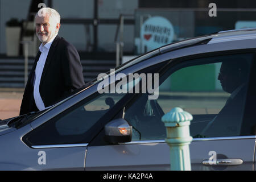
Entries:
[[85, 170], [168, 170], [169, 151], [166, 143], [154, 140], [150, 143], [89, 146]]

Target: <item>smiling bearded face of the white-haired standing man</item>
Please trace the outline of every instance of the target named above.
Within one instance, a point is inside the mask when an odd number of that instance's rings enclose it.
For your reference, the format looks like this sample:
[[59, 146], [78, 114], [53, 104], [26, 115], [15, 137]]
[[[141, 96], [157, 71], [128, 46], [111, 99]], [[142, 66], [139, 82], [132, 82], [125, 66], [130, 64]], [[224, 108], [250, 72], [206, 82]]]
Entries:
[[36, 36], [43, 45], [49, 42], [60, 28], [60, 23], [56, 23], [55, 19], [50, 18], [48, 14], [46, 16], [36, 16], [35, 23]]

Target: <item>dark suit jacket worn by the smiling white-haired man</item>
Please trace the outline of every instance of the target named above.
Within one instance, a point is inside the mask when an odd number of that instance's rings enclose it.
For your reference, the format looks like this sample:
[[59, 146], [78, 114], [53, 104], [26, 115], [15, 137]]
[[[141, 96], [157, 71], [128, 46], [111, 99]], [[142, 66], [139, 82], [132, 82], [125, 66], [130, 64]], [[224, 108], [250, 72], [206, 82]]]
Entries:
[[[34, 74], [39, 56], [40, 53], [36, 56], [35, 63], [28, 76], [20, 106], [20, 115], [33, 111], [30, 105], [34, 100], [34, 97], [32, 97]], [[56, 36], [49, 49], [40, 80], [39, 92], [44, 106], [48, 107], [56, 104], [84, 84], [79, 53], [72, 44], [60, 38], [60, 36]]]

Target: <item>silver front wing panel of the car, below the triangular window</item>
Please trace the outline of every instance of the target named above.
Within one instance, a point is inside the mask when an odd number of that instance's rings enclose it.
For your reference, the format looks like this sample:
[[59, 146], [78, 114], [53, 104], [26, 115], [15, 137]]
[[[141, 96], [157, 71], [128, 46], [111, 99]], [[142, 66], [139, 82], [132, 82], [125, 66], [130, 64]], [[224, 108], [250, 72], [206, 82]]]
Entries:
[[[0, 170], [84, 170], [86, 147], [31, 148], [22, 141], [30, 131], [26, 125], [0, 137]], [[39, 162], [42, 157], [46, 164]]]

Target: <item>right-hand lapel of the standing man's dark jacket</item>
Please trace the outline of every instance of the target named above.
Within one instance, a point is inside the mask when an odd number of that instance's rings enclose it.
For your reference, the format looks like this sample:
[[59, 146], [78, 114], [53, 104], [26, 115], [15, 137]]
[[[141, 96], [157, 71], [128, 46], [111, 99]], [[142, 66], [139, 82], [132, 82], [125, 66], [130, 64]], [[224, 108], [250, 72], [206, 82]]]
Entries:
[[52, 45], [49, 49], [47, 59], [46, 59], [46, 63], [44, 64], [44, 69], [43, 69], [43, 73], [42, 73], [42, 76], [41, 76], [40, 85], [43, 82], [44, 77], [46, 76], [46, 73], [47, 73], [49, 65], [52, 61], [52, 57], [53, 57], [53, 54], [55, 53], [56, 46], [59, 43], [59, 40], [60, 40], [60, 37], [59, 37], [59, 35], [57, 35], [56, 38], [53, 40]]

